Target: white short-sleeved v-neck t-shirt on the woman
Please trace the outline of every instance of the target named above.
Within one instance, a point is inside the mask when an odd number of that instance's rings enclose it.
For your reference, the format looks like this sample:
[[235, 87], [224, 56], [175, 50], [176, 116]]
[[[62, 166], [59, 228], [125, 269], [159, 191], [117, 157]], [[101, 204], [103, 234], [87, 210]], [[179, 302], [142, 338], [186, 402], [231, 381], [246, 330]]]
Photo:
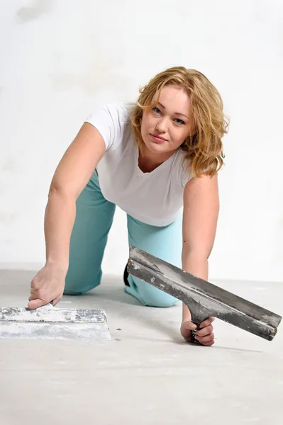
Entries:
[[96, 167], [101, 192], [106, 200], [141, 222], [169, 225], [182, 208], [184, 186], [192, 178], [184, 162], [185, 153], [178, 149], [155, 170], [143, 173], [131, 128], [131, 107], [109, 104], [86, 120], [100, 132], [106, 145]]

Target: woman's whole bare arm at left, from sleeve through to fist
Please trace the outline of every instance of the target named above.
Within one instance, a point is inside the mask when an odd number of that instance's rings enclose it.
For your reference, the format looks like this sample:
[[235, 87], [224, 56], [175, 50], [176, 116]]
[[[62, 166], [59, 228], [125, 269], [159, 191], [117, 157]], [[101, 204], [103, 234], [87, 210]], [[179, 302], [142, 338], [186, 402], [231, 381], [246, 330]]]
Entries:
[[31, 282], [30, 308], [38, 308], [50, 301], [55, 305], [62, 297], [69, 266], [76, 200], [105, 149], [98, 130], [84, 123], [57, 166], [45, 209], [46, 263]]

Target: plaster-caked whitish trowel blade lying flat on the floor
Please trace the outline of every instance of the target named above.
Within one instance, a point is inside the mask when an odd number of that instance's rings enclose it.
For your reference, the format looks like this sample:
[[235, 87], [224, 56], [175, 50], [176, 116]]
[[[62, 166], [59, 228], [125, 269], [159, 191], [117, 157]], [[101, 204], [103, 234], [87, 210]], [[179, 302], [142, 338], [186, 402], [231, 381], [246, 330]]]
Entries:
[[110, 341], [104, 310], [0, 308], [0, 338]]

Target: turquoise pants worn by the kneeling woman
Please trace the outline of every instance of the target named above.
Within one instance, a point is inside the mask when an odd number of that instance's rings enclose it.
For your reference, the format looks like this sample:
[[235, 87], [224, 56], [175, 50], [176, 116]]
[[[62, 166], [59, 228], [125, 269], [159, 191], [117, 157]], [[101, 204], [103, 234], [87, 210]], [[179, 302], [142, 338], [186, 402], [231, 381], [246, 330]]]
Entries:
[[[79, 198], [70, 240], [65, 294], [80, 295], [101, 282], [101, 263], [116, 205], [104, 198], [94, 172]], [[128, 243], [175, 266], [182, 259], [182, 215], [171, 225], [157, 227], [127, 215]], [[125, 266], [128, 257], [125, 258]], [[128, 276], [125, 290], [143, 305], [171, 307], [177, 299], [143, 280]]]

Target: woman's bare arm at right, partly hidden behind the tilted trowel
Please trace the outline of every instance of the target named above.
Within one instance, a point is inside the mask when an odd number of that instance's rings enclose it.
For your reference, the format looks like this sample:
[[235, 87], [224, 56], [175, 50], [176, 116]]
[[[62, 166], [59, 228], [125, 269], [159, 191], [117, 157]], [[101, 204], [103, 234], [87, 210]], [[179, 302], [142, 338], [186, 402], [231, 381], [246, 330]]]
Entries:
[[[208, 280], [208, 259], [216, 236], [218, 212], [217, 174], [190, 180], [184, 188], [182, 268], [205, 280]], [[182, 322], [190, 320], [189, 309], [183, 305]]]

